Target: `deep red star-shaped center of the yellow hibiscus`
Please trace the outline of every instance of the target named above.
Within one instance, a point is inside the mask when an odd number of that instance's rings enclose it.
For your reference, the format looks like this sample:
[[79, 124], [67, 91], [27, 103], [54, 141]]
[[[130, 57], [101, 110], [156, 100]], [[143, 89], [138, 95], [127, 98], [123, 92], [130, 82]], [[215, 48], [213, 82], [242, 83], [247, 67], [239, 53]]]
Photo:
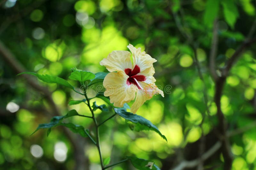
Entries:
[[141, 89], [141, 86], [138, 84], [138, 81], [145, 81], [146, 77], [143, 75], [137, 75], [138, 73], [140, 73], [140, 67], [138, 65], [135, 65], [133, 70], [125, 69], [124, 72], [129, 76], [129, 78], [127, 78], [126, 84], [134, 84], [138, 87], [138, 89]]

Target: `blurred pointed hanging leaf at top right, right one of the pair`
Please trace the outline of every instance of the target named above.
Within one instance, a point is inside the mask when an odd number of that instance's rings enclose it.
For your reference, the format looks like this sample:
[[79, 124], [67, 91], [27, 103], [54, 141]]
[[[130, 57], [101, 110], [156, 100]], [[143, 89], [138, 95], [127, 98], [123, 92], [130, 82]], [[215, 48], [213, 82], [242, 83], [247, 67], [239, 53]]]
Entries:
[[221, 4], [223, 6], [224, 17], [228, 25], [233, 29], [236, 23], [236, 19], [239, 16], [236, 4], [234, 0], [222, 0]]

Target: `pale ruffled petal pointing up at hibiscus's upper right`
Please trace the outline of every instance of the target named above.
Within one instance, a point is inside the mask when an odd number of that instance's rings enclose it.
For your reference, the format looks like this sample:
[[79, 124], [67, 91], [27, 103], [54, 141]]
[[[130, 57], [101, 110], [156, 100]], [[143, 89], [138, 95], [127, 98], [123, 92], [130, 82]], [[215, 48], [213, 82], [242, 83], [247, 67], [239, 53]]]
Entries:
[[[140, 48], [135, 48], [135, 47], [132, 46], [132, 44], [129, 44], [127, 47], [132, 52], [133, 63], [134, 63], [133, 67], [135, 65], [138, 65], [140, 67], [141, 72], [146, 70], [146, 69], [152, 70], [153, 63], [156, 62], [156, 59], [154, 59], [150, 55], [146, 54], [145, 51], [141, 52]], [[146, 76], [148, 76], [148, 75], [146, 75]]]

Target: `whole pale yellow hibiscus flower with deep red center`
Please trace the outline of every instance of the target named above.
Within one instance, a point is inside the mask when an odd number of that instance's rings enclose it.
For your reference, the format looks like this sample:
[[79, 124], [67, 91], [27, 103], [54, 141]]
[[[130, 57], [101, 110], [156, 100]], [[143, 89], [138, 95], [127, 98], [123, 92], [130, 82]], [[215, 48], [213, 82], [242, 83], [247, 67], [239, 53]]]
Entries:
[[156, 59], [131, 44], [127, 47], [132, 52], [133, 64], [129, 51], [113, 51], [100, 62], [110, 72], [103, 81], [106, 88], [104, 96], [109, 96], [115, 107], [123, 107], [124, 103], [135, 99], [131, 112], [136, 113], [146, 100], [156, 94], [164, 97], [164, 92], [157, 88], [153, 77]]

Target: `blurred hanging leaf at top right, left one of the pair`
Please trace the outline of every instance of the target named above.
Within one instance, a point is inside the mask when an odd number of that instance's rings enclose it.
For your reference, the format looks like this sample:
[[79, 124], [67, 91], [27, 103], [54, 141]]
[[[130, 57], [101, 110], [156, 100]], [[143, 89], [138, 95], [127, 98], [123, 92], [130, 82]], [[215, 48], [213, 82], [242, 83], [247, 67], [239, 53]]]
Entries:
[[204, 12], [204, 24], [211, 27], [218, 16], [220, 0], [207, 0]]

